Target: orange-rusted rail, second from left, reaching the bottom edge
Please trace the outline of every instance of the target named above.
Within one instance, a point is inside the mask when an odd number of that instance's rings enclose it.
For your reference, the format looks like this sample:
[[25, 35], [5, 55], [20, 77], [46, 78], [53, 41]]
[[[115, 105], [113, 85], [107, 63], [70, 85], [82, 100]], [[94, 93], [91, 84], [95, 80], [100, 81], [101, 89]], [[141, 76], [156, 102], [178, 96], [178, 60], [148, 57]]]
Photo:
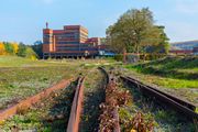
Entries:
[[80, 113], [81, 113], [82, 100], [84, 100], [84, 80], [85, 77], [78, 78], [78, 85], [76, 87], [69, 121], [67, 124], [67, 132], [78, 132], [79, 130]]

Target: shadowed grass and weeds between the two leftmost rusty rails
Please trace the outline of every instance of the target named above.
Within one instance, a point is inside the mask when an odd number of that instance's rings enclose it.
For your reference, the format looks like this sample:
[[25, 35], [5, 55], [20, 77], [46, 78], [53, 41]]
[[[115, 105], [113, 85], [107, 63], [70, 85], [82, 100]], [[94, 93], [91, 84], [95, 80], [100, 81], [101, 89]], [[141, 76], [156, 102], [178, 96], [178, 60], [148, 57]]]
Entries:
[[21, 109], [13, 118], [1, 122], [0, 132], [38, 131], [65, 132], [69, 119], [76, 81], [52, 92], [31, 109]]

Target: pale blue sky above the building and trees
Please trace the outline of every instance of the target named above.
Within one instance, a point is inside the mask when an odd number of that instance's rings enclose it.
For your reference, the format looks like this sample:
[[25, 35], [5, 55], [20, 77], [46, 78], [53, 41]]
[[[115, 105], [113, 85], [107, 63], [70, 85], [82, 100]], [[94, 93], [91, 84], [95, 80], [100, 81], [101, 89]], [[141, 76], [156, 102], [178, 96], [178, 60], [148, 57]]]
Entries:
[[156, 24], [165, 25], [170, 42], [198, 40], [198, 0], [1, 0], [0, 41], [32, 44], [52, 29], [81, 24], [89, 36], [106, 29], [127, 10], [148, 7]]

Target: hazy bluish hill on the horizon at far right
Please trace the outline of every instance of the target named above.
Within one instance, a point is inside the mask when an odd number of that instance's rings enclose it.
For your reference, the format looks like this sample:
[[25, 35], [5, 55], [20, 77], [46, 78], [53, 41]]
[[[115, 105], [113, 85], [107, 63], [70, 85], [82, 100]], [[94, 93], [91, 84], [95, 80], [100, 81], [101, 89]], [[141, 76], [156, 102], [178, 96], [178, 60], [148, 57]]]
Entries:
[[170, 45], [172, 45], [172, 48], [193, 50], [194, 47], [198, 47], [198, 40], [186, 41], [186, 42], [176, 42], [176, 43], [172, 43]]

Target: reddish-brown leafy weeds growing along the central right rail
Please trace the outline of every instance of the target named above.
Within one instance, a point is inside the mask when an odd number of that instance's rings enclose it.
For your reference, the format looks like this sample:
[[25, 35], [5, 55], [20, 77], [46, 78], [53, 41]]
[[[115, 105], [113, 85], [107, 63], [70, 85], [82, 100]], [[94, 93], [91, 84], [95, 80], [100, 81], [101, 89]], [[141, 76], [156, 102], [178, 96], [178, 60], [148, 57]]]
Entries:
[[[102, 69], [103, 70], [103, 69]], [[105, 72], [106, 73], [106, 72]], [[119, 110], [130, 103], [131, 95], [128, 90], [118, 89], [116, 79], [112, 75], [108, 75], [109, 81], [106, 88], [106, 102], [100, 105], [102, 113], [100, 114], [100, 132], [120, 132], [120, 119]], [[135, 125], [141, 125], [142, 121], [139, 122], [141, 116], [136, 116], [134, 121], [129, 121], [130, 123], [135, 123]], [[132, 127], [132, 125], [131, 125]], [[146, 127], [146, 125], [145, 125]], [[131, 128], [130, 130], [132, 130]], [[135, 128], [134, 128], [135, 129]]]

